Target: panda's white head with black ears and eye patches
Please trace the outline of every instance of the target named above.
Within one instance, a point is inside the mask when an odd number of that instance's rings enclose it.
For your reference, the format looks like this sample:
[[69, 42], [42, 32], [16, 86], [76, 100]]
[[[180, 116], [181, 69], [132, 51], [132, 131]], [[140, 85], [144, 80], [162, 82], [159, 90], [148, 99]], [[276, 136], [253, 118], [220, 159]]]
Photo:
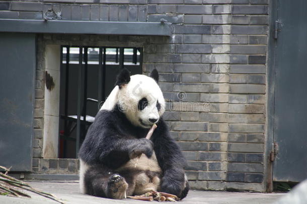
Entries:
[[158, 71], [153, 70], [145, 75], [132, 75], [123, 69], [117, 76], [116, 85], [119, 87], [117, 103], [135, 126], [149, 128], [157, 123], [165, 111], [165, 101], [162, 91], [157, 84]]

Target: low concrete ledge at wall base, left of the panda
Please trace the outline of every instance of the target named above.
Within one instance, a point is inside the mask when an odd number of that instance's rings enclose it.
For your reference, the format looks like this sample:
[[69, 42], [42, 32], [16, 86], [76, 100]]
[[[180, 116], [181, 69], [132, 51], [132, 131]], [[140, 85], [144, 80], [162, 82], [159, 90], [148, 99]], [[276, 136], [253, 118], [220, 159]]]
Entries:
[[71, 181], [79, 180], [79, 175], [76, 174], [25, 174], [26, 180], [46, 180], [46, 181]]

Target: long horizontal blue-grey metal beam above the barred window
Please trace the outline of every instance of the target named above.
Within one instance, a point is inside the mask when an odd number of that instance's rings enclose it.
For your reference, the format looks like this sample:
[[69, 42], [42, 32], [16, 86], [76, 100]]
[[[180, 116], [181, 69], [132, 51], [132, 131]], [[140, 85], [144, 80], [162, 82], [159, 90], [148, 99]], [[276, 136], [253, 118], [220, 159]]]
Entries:
[[0, 32], [171, 36], [171, 23], [1, 19]]

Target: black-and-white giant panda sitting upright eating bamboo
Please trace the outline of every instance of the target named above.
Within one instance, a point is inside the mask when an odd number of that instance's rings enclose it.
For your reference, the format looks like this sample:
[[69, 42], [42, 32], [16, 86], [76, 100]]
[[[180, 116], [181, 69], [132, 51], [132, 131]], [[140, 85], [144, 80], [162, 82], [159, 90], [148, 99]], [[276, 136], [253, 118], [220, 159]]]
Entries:
[[186, 197], [186, 160], [162, 118], [165, 100], [158, 81], [156, 69], [149, 77], [130, 76], [126, 69], [119, 73], [79, 152], [83, 193], [122, 199], [159, 190]]

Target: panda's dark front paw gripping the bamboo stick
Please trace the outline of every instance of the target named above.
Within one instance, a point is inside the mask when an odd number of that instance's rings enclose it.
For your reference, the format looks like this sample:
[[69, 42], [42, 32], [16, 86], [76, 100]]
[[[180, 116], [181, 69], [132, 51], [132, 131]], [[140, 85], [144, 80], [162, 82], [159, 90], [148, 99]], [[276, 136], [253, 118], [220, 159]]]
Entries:
[[129, 158], [133, 159], [135, 157], [140, 156], [141, 154], [145, 154], [146, 157], [150, 158], [152, 156], [153, 151], [154, 147], [150, 140], [147, 140], [145, 138], [138, 139], [138, 142], [129, 152]]

